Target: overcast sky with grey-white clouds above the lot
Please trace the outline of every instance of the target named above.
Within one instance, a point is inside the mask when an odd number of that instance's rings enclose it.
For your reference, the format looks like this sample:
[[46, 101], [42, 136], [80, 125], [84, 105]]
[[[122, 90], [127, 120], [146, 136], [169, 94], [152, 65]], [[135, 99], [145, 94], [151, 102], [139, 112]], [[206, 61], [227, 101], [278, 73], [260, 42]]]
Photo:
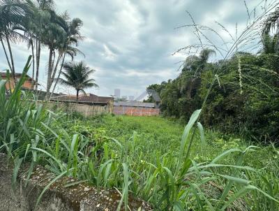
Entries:
[[[252, 9], [259, 0], [247, 0]], [[178, 75], [179, 61], [184, 54], [172, 53], [196, 43], [190, 29], [175, 29], [190, 24], [188, 10], [195, 22], [216, 26], [221, 22], [234, 33], [235, 24], [247, 20], [243, 0], [59, 0], [56, 9], [68, 10], [71, 17], [83, 20], [82, 35], [86, 39], [79, 48], [86, 54], [84, 60], [96, 69], [93, 78], [99, 90], [88, 92], [100, 95], [139, 95], [148, 85], [160, 83]], [[26, 44], [13, 45], [17, 72], [22, 71], [29, 55]], [[40, 84], [45, 85], [47, 51], [43, 51]], [[0, 51], [0, 69], [6, 68], [3, 50]], [[72, 92], [59, 86], [60, 92]]]

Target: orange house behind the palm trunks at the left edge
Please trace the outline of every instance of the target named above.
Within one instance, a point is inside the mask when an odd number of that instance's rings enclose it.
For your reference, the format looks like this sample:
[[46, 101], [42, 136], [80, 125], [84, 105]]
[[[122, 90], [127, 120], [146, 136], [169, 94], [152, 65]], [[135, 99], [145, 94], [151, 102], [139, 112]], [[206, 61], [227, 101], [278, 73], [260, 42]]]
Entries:
[[[7, 73], [6, 72], [0, 72], [0, 76], [3, 80], [7, 80]], [[33, 79], [29, 76], [26, 75], [27, 80], [25, 80], [24, 84], [22, 85], [22, 88], [24, 89], [33, 89], [35, 82], [33, 81]], [[22, 78], [22, 73], [15, 73], [15, 80], [17, 80], [17, 82], [20, 80], [20, 78]], [[9, 82], [6, 82], [6, 89], [15, 89], [15, 81], [13, 80], [13, 76], [10, 75], [10, 80]]]

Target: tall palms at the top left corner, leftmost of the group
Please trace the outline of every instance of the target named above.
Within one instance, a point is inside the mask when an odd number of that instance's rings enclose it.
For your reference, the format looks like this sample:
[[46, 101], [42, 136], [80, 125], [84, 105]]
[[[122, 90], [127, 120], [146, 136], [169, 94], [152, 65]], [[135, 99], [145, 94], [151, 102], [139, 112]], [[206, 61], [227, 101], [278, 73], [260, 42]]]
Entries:
[[[54, 38], [48, 32], [54, 28], [53, 20], [55, 20], [55, 17], [59, 16], [56, 15], [53, 8], [53, 0], [0, 0], [0, 40], [8, 61], [8, 66], [14, 75], [15, 66], [10, 41], [15, 42], [23, 38], [28, 42], [28, 46], [32, 50], [32, 78], [35, 77], [36, 54], [36, 89], [38, 89], [40, 50], [41, 45], [45, 44], [43, 43], [43, 38]], [[24, 34], [18, 33], [17, 30], [23, 31]], [[6, 41], [8, 45], [9, 54], [3, 41]]]

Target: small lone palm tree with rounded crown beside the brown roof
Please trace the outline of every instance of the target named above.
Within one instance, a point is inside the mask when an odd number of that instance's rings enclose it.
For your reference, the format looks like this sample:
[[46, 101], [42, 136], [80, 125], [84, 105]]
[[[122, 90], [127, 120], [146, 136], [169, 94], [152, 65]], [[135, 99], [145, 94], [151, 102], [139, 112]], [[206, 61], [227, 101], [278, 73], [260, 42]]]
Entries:
[[63, 68], [65, 71], [61, 72], [61, 74], [65, 79], [58, 78], [57, 80], [59, 80], [62, 85], [75, 88], [77, 91], [77, 101], [80, 91], [84, 92], [84, 89], [89, 87], [98, 87], [95, 80], [89, 78], [91, 73], [94, 73], [95, 70], [90, 69], [84, 62], [69, 62], [64, 64]]

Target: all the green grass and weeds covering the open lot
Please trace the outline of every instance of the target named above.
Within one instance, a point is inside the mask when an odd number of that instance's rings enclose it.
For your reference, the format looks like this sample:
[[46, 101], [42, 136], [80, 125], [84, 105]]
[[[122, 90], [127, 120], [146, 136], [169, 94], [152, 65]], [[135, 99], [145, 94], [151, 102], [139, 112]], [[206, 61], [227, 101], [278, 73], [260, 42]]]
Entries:
[[278, 150], [204, 133], [201, 110], [185, 129], [161, 117], [85, 119], [22, 100], [23, 81], [8, 99], [0, 81], [0, 150], [15, 162], [13, 182], [20, 165], [30, 162], [29, 173], [40, 164], [56, 178], [119, 189], [127, 210], [128, 195], [155, 210], [278, 209]]

